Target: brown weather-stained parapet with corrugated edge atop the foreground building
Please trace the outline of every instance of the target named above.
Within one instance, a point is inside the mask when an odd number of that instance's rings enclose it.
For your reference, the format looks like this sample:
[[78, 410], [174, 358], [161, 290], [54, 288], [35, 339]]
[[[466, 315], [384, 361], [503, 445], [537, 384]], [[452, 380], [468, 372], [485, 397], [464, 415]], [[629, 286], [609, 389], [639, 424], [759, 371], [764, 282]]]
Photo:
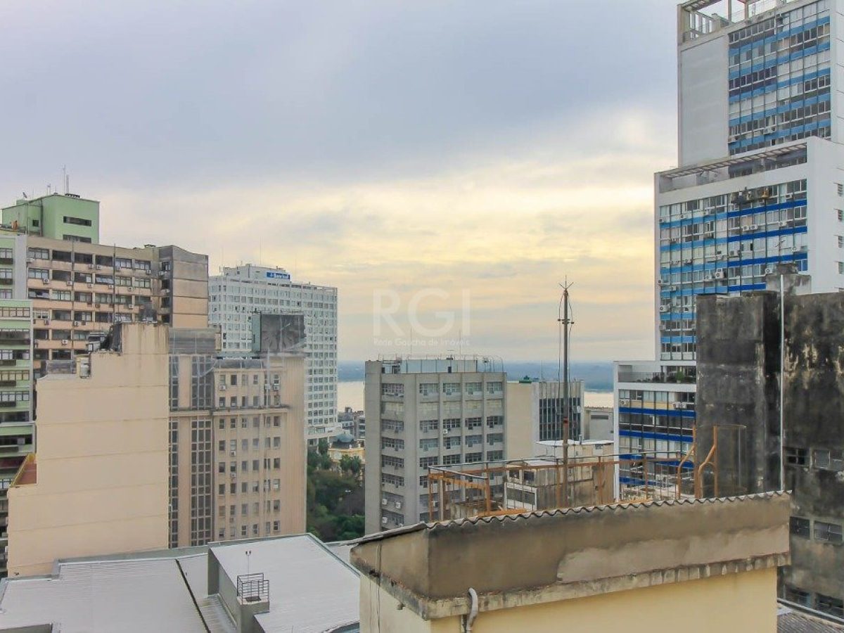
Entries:
[[351, 561], [438, 619], [468, 613], [467, 587], [483, 612], [787, 565], [790, 503], [766, 493], [419, 523], [360, 538]]

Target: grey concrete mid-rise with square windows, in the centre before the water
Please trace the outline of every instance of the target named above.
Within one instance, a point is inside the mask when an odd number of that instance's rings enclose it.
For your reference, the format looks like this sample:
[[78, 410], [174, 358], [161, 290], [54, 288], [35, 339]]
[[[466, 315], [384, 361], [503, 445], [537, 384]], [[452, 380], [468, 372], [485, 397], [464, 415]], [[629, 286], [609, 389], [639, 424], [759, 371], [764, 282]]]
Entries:
[[506, 373], [489, 359], [370, 360], [366, 532], [427, 521], [428, 468], [506, 458]]

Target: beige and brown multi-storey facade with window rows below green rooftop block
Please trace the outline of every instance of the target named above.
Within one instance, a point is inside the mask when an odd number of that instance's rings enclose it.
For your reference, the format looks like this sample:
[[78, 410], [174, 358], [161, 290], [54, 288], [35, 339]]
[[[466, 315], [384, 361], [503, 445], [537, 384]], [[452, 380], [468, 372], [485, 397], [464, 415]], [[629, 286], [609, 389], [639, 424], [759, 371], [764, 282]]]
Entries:
[[86, 353], [112, 323], [208, 326], [208, 256], [178, 246], [123, 248], [27, 235], [35, 371]]

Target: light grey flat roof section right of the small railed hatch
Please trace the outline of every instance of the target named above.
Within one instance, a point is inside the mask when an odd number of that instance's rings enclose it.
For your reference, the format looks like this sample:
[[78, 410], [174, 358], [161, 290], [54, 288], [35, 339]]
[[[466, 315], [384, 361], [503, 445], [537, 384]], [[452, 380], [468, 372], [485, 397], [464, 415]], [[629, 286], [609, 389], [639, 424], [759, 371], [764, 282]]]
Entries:
[[250, 573], [269, 581], [269, 613], [257, 616], [263, 630], [321, 633], [357, 622], [360, 576], [310, 534], [213, 546], [225, 573], [236, 581]]

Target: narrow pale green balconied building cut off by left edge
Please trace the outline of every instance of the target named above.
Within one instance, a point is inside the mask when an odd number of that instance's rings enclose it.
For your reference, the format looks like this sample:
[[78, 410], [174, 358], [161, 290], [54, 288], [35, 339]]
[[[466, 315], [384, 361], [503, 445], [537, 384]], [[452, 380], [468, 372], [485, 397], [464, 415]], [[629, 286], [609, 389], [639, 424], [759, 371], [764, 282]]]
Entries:
[[35, 447], [32, 304], [26, 299], [26, 275], [26, 235], [22, 229], [0, 229], [0, 576], [6, 575], [6, 491]]

